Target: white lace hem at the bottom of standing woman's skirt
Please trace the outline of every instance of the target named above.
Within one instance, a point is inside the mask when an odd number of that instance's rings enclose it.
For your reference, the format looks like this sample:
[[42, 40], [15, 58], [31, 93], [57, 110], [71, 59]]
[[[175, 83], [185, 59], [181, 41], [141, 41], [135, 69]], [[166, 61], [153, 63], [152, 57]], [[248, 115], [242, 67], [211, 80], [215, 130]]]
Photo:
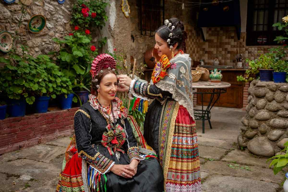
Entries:
[[197, 182], [194, 185], [179, 185], [173, 183], [166, 183], [166, 192], [201, 192], [201, 182]]

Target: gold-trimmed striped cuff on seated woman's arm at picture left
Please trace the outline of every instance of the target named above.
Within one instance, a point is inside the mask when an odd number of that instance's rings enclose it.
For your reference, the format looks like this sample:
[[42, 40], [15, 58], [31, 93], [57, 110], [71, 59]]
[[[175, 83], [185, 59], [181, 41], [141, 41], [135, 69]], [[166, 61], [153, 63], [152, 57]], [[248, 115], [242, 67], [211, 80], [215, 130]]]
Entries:
[[92, 165], [95, 169], [98, 170], [101, 174], [107, 173], [112, 166], [115, 164], [114, 161], [108, 159], [101, 153], [96, 153], [96, 155], [92, 158], [88, 154], [84, 154], [84, 151], [80, 151], [79, 156], [82, 157], [82, 159], [86, 160], [90, 165]]

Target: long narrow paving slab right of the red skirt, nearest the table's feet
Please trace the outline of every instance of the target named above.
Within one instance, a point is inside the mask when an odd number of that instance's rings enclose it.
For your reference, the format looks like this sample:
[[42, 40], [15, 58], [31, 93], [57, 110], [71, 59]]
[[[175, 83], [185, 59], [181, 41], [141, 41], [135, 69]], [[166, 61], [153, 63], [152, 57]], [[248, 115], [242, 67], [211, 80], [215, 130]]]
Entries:
[[198, 137], [198, 145], [215, 146], [224, 149], [231, 149], [234, 146], [231, 145], [231, 140], [222, 140], [208, 137]]

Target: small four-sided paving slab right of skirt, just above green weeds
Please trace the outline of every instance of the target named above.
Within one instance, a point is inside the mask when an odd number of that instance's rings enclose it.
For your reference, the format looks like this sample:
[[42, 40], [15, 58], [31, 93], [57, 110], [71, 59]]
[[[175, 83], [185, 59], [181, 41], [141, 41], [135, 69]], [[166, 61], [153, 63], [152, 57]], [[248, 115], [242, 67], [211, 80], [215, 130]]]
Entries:
[[199, 155], [202, 158], [213, 158], [220, 160], [220, 158], [226, 153], [226, 149], [221, 149], [218, 147], [209, 147], [205, 145], [198, 145]]

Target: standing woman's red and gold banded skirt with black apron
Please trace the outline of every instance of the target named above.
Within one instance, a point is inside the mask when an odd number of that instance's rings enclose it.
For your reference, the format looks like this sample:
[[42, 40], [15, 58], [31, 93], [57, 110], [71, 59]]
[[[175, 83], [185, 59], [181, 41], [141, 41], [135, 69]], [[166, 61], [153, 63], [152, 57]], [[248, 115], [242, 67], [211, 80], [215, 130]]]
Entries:
[[166, 192], [201, 192], [195, 121], [175, 100], [154, 100], [144, 123], [144, 137], [160, 159]]

